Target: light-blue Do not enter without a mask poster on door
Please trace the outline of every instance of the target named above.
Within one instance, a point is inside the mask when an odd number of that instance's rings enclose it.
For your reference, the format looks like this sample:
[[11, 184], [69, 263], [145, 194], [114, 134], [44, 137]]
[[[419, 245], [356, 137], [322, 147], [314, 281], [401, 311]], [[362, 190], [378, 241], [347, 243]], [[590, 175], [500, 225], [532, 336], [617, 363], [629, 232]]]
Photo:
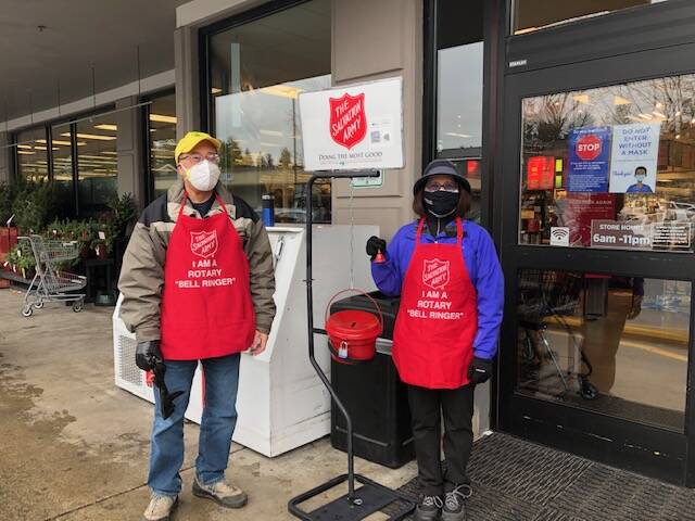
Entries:
[[612, 193], [654, 193], [660, 131], [659, 123], [635, 123], [612, 127]]

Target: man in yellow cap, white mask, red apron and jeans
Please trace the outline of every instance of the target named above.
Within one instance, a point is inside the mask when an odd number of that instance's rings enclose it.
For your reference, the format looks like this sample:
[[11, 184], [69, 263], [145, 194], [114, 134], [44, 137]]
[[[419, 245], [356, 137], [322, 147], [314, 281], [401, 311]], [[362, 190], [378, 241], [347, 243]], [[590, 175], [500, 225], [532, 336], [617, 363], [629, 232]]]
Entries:
[[155, 414], [146, 521], [168, 520], [181, 490], [184, 412], [199, 361], [205, 406], [193, 494], [227, 508], [247, 494], [225, 480], [237, 422], [240, 353], [255, 356], [275, 316], [268, 236], [255, 212], [219, 182], [219, 140], [188, 132], [178, 181], [143, 212], [124, 255], [121, 318], [136, 364], [154, 376]]

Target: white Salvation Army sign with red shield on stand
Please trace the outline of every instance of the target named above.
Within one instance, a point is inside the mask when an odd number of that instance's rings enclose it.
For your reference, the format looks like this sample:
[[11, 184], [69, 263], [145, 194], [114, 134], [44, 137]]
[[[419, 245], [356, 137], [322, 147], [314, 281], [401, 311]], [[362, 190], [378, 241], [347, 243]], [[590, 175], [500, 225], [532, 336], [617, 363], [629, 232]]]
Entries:
[[304, 169], [402, 168], [403, 80], [300, 94]]

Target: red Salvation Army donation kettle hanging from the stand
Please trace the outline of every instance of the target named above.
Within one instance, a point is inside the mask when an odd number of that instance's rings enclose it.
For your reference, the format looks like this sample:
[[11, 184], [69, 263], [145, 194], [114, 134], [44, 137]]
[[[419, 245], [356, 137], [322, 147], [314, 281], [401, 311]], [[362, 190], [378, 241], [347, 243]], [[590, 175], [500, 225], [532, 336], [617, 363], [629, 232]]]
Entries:
[[[328, 312], [336, 297], [351, 291], [369, 298], [379, 317], [361, 309], [345, 309], [333, 313], [329, 317]], [[377, 302], [366, 291], [352, 289], [339, 291], [328, 302], [325, 318], [328, 348], [336, 361], [353, 365], [369, 361], [375, 357], [377, 338], [383, 331], [383, 316]]]

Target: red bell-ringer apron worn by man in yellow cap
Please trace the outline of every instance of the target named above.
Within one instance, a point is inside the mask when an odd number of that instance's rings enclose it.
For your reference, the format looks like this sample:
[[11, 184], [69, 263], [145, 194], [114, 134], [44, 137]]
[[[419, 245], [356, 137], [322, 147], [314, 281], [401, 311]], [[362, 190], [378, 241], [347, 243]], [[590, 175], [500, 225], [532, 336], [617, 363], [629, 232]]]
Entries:
[[255, 332], [249, 260], [223, 212], [184, 215], [184, 195], [164, 265], [161, 330], [166, 360], [216, 358], [248, 350]]

